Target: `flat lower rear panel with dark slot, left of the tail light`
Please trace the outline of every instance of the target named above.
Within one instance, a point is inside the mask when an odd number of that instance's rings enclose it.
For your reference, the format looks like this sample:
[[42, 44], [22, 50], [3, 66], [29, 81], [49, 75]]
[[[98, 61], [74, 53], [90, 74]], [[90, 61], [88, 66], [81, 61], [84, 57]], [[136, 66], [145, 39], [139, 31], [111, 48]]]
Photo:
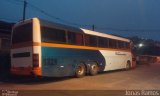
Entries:
[[29, 75], [32, 70], [32, 47], [11, 49], [11, 73]]

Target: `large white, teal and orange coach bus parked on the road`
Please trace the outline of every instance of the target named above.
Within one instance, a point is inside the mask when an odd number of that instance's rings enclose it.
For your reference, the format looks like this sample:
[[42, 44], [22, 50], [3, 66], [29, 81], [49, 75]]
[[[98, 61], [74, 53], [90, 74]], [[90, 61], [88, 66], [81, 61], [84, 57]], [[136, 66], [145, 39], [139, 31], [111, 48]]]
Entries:
[[132, 66], [127, 38], [39, 18], [18, 22], [12, 30], [14, 75], [83, 77]]

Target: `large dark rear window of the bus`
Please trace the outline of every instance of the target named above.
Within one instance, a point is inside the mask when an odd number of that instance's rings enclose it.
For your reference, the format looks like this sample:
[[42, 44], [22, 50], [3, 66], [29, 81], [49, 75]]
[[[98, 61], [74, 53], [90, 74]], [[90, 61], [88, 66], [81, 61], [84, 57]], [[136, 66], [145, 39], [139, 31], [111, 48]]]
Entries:
[[32, 41], [32, 23], [20, 25], [13, 29], [12, 44]]

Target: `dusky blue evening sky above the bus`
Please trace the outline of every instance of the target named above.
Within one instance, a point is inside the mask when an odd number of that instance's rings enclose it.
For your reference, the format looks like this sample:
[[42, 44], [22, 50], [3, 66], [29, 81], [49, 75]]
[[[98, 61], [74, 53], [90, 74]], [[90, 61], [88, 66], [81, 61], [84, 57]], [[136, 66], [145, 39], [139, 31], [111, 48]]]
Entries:
[[[27, 0], [26, 18], [160, 41], [160, 0]], [[43, 11], [39, 11], [38, 8]], [[0, 0], [0, 20], [22, 19], [22, 0]], [[44, 14], [44, 13], [47, 13]]]

